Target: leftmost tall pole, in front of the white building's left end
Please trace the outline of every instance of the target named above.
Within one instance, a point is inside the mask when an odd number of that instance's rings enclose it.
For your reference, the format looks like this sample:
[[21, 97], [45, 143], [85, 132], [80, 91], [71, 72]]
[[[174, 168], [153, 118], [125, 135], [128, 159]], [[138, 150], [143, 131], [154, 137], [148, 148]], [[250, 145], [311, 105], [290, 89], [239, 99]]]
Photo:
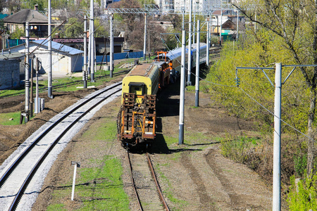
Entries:
[[30, 75], [29, 75], [29, 23], [25, 23], [25, 123], [29, 121], [30, 112]]

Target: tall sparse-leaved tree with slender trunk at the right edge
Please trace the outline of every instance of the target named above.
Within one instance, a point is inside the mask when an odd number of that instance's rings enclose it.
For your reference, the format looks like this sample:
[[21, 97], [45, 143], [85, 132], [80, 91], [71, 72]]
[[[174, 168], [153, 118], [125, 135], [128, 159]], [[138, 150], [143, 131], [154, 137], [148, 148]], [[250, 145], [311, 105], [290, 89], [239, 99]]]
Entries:
[[[240, 4], [235, 6], [256, 25], [256, 30], [265, 29], [273, 32], [276, 35], [275, 38], [280, 41], [278, 45], [280, 49], [276, 50], [285, 51], [292, 56], [293, 64], [317, 63], [316, 1], [249, 0], [240, 1]], [[299, 70], [302, 72], [306, 90], [309, 92], [307, 134], [314, 138], [317, 67], [301, 67]], [[316, 143], [309, 139], [307, 146], [307, 172], [311, 174], [313, 160], [316, 157]]]

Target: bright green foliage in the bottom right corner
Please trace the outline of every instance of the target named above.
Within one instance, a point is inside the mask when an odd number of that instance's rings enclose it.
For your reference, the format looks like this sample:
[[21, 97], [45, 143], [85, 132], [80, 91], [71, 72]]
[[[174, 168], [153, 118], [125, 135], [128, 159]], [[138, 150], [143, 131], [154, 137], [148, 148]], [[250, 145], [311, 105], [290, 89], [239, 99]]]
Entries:
[[295, 184], [294, 176], [291, 179], [290, 193], [287, 194], [289, 210], [317, 210], [317, 174]]

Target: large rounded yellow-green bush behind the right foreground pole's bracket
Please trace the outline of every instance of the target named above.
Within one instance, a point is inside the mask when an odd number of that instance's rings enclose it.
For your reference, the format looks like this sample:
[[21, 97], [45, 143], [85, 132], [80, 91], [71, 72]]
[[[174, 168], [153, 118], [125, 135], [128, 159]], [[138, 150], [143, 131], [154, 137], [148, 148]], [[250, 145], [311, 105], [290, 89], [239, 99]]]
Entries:
[[[236, 86], [235, 77], [237, 67], [269, 67], [274, 68], [275, 62], [294, 64], [290, 52], [285, 50], [278, 36], [266, 30], [259, 30], [254, 34], [247, 31], [247, 38], [243, 41], [226, 42], [223, 46], [220, 60], [211, 66], [207, 80], [216, 84]], [[282, 78], [285, 79], [291, 68], [283, 68]], [[275, 71], [264, 70], [271, 82], [274, 83]], [[273, 125], [273, 115], [268, 113], [258, 103], [268, 110], [274, 108], [274, 87], [261, 70], [237, 70], [240, 79], [240, 89], [211, 85], [210, 91], [216, 99], [223, 103], [231, 113], [238, 117], [258, 119], [264, 131], [269, 131]], [[242, 91], [243, 90], [243, 91]], [[251, 99], [244, 91], [254, 98]], [[294, 71], [292, 76], [283, 84], [282, 89], [282, 119], [287, 120], [293, 127], [302, 132], [307, 127], [309, 110], [309, 93], [302, 72]], [[283, 127], [283, 132], [294, 132], [290, 127]]]

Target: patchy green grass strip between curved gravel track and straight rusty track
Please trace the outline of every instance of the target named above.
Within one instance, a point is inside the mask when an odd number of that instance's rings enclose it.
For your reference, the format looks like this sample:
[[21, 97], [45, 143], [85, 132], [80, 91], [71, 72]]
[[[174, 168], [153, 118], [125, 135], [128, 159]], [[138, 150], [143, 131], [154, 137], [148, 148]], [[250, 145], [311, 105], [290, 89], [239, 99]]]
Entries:
[[[94, 151], [95, 147], [101, 153], [106, 151], [110, 141], [116, 139], [116, 121], [113, 117], [101, 117], [97, 120], [100, 127], [92, 125], [82, 134], [82, 140], [89, 140], [87, 152]], [[105, 143], [106, 144], [99, 144]], [[91, 144], [90, 144], [91, 143]], [[102, 147], [102, 148], [101, 148]], [[88, 166], [88, 167], [85, 167]], [[75, 200], [76, 210], [129, 210], [129, 198], [123, 188], [121, 175], [123, 167], [120, 158], [115, 155], [93, 156], [77, 169]], [[61, 204], [63, 198], [70, 198], [72, 179], [65, 184], [58, 184], [64, 188], [56, 188], [52, 193], [52, 204], [47, 210], [65, 210], [68, 201]], [[66, 207], [66, 208], [64, 208]]]

